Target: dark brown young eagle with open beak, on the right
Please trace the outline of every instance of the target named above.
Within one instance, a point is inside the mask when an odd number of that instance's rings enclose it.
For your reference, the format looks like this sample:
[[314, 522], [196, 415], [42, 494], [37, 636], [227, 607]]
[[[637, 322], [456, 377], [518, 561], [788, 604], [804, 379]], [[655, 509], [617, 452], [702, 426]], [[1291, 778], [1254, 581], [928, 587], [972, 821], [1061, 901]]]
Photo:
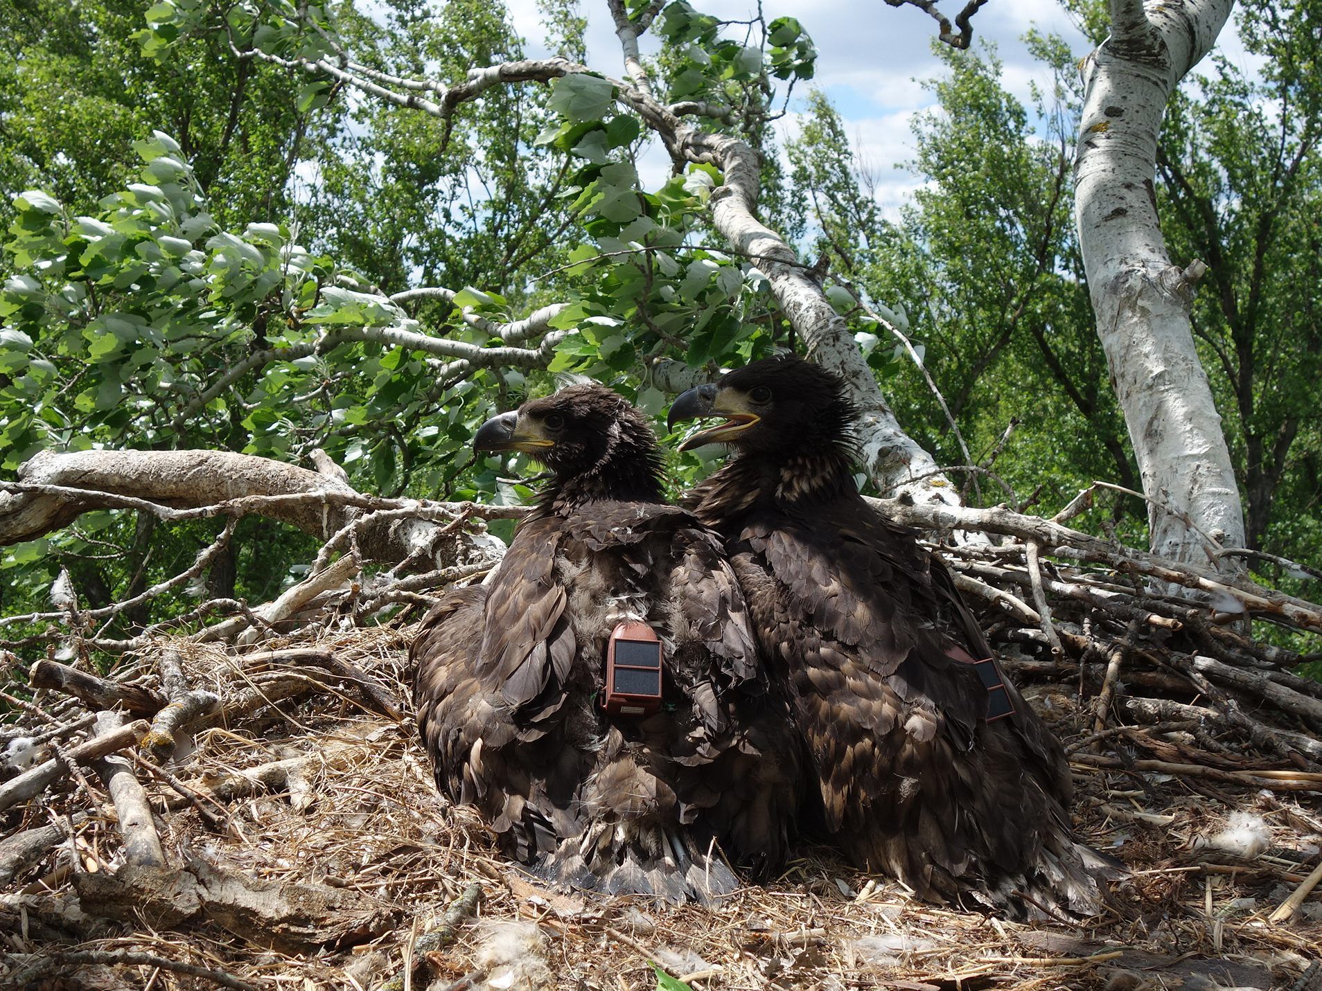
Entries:
[[834, 842], [924, 899], [1097, 910], [1105, 862], [1071, 834], [1060, 744], [1009, 682], [1014, 715], [988, 720], [956, 658], [992, 650], [944, 564], [857, 493], [841, 381], [758, 361], [681, 396], [672, 420], [694, 416], [726, 423], [683, 447], [735, 457], [689, 505], [726, 536]]

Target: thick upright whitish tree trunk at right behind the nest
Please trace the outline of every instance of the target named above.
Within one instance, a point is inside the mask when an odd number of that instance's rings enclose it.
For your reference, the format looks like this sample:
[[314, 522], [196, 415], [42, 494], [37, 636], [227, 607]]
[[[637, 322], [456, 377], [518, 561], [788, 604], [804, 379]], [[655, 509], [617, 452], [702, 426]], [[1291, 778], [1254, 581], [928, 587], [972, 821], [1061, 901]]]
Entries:
[[[1243, 547], [1239, 489], [1190, 324], [1202, 266], [1171, 263], [1153, 190], [1166, 103], [1212, 48], [1231, 4], [1110, 0], [1110, 37], [1083, 66], [1075, 222], [1144, 493]], [[1155, 505], [1147, 518], [1154, 554], [1206, 563], [1204, 540], [1181, 518]]]

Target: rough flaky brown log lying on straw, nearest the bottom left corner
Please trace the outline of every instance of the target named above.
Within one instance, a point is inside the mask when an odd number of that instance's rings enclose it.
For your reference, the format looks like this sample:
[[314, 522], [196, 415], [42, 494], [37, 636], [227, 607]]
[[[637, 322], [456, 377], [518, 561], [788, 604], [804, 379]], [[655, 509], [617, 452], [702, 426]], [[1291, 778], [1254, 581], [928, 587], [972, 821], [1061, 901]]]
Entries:
[[287, 953], [366, 942], [394, 922], [356, 891], [260, 880], [201, 858], [182, 868], [126, 864], [114, 876], [75, 872], [74, 887], [83, 912], [93, 916], [163, 929], [210, 920], [251, 943]]

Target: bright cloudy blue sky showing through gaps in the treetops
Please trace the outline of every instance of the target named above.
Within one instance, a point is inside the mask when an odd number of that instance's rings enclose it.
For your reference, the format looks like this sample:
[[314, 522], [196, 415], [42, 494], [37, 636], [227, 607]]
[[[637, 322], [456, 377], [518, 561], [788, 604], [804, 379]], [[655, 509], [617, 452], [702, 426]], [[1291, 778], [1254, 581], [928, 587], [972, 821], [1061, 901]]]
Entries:
[[[693, 5], [723, 20], [746, 20], [756, 11], [756, 0], [690, 0]], [[962, 3], [944, 0], [947, 16]], [[611, 75], [623, 74], [620, 45], [615, 37], [604, 0], [582, 0], [588, 17], [588, 63]], [[545, 54], [537, 0], [509, 0], [516, 29], [527, 40], [530, 55]], [[874, 172], [876, 200], [887, 215], [895, 214], [903, 198], [916, 186], [912, 176], [895, 168], [912, 156], [910, 123], [915, 114], [932, 106], [931, 94], [920, 85], [941, 70], [932, 54], [936, 22], [912, 7], [891, 8], [880, 0], [764, 0], [768, 21], [783, 15], [800, 20], [817, 45], [817, 77], [813, 85], [825, 90], [847, 122], [855, 151]], [[1050, 75], [1038, 66], [1019, 38], [1029, 28], [1064, 37], [1077, 55], [1088, 52], [1064, 9], [1055, 0], [990, 0], [973, 18], [974, 44], [992, 41], [1005, 65], [1005, 85], [1026, 104], [1030, 82], [1050, 86]], [[1222, 44], [1232, 58], [1243, 61], [1243, 49], [1228, 28]], [[654, 40], [644, 37], [644, 53], [654, 52]], [[1210, 63], [1199, 69], [1208, 71]], [[793, 133], [793, 111], [781, 124]], [[660, 152], [646, 155], [640, 173], [646, 186], [664, 181], [669, 163]]]

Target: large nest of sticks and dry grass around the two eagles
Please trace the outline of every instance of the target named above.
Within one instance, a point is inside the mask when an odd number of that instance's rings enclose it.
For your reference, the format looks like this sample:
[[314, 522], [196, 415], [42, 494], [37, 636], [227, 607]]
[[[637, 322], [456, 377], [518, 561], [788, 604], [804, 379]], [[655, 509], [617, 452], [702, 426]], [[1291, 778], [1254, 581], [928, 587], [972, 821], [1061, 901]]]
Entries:
[[[275, 604], [222, 604], [237, 616], [193, 636], [48, 632], [25, 646], [48, 650], [30, 669], [0, 657], [22, 673], [13, 684], [36, 688], [0, 698], [16, 720], [0, 723], [0, 751], [24, 737], [53, 765], [17, 791], [21, 774], [0, 778], [0, 922], [17, 926], [0, 976], [82, 967], [107, 987], [271, 987], [297, 974], [366, 988], [407, 971], [395, 986], [498, 987], [493, 920], [522, 920], [584, 987], [656, 987], [652, 961], [695, 988], [1114, 991], [1192, 980], [1173, 970], [1181, 958], [1232, 967], [1211, 974], [1223, 982], [1252, 986], [1256, 969], [1322, 987], [1322, 684], [1297, 673], [1310, 657], [1244, 632], [1245, 617], [1322, 630], [1322, 606], [1066, 527], [1085, 502], [1054, 519], [882, 509], [928, 532], [993, 535], [935, 550], [1066, 741], [1081, 836], [1133, 871], [1128, 914], [1021, 925], [921, 905], [810, 846], [773, 884], [713, 909], [547, 891], [438, 795], [407, 704], [410, 628], [364, 625], [387, 597], [431, 596], [395, 569], [385, 595], [350, 547]], [[1232, 554], [1212, 544], [1210, 564]], [[489, 567], [479, 552], [423, 577]], [[61, 638], [73, 666], [53, 661]], [[90, 650], [122, 659], [98, 677]], [[139, 793], [136, 813], [119, 788]], [[1203, 842], [1248, 809], [1265, 852]], [[141, 823], [156, 844], [135, 846]], [[126, 891], [139, 904], [116, 917]], [[1125, 969], [1137, 976], [1116, 984]]]

